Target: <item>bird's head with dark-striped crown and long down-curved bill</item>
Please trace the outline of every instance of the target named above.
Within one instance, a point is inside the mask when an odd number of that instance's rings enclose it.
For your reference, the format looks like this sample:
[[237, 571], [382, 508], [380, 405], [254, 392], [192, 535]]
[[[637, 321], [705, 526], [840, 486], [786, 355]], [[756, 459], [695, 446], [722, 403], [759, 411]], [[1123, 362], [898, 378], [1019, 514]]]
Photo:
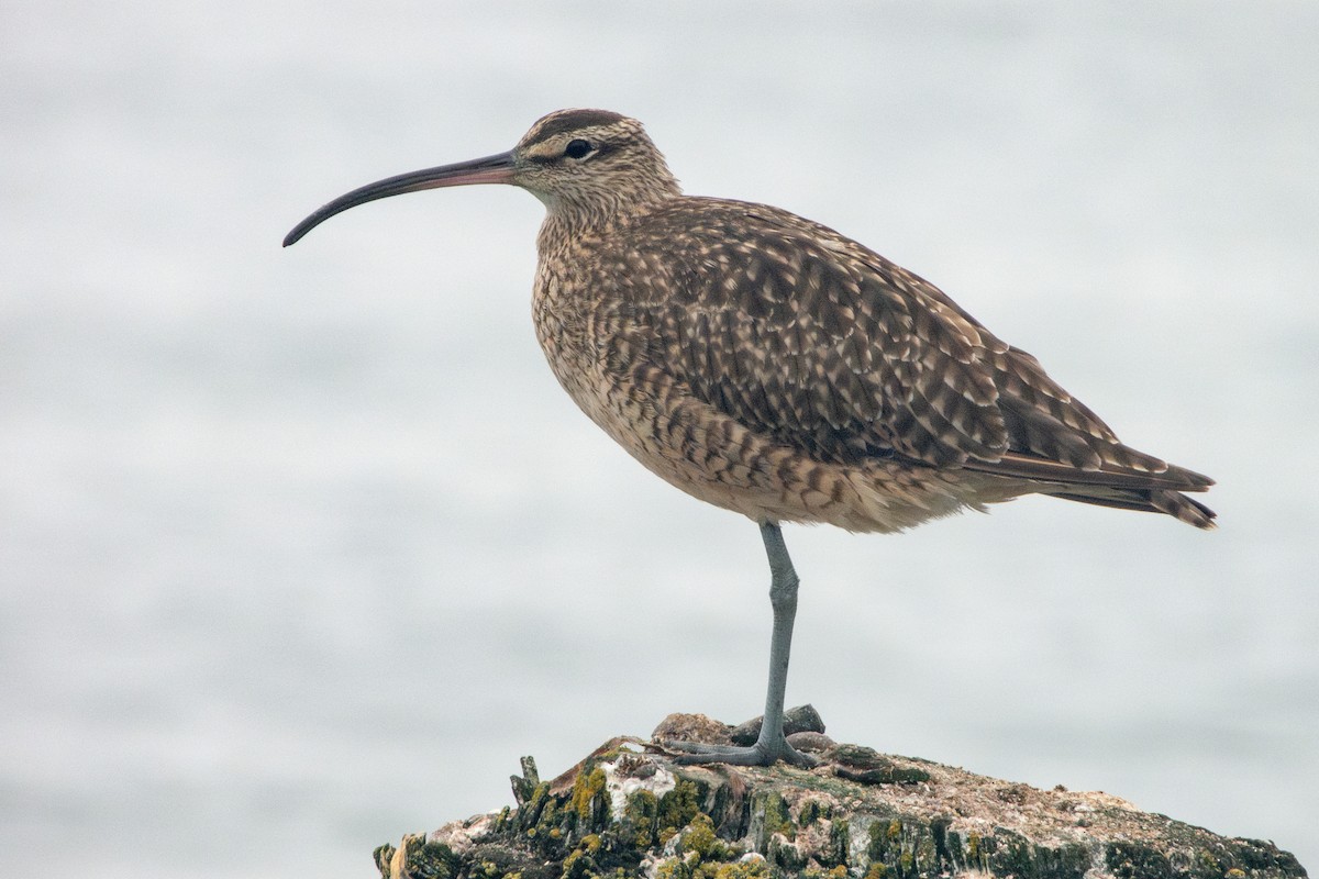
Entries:
[[284, 246], [351, 207], [471, 183], [520, 186], [541, 199], [551, 216], [586, 224], [641, 212], [679, 192], [641, 123], [604, 109], [561, 109], [539, 119], [506, 153], [400, 174], [340, 195], [295, 225]]

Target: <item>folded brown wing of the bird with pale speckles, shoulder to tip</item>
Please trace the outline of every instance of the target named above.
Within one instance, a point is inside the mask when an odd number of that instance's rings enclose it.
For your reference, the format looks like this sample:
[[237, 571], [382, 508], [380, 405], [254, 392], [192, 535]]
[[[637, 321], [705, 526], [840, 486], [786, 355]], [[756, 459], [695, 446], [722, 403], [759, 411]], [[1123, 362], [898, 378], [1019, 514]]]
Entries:
[[840, 463], [1101, 484], [1167, 469], [938, 287], [826, 227], [706, 199], [650, 223], [671, 229], [623, 249], [611, 307], [657, 365], [757, 432]]

